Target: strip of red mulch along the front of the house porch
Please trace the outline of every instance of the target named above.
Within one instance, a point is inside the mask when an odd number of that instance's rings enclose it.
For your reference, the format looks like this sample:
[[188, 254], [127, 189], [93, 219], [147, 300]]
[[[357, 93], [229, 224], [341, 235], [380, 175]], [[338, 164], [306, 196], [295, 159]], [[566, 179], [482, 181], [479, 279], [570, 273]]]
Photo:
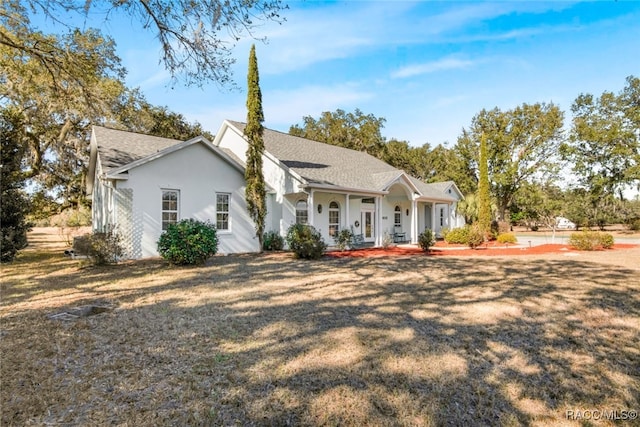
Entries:
[[[616, 249], [630, 249], [635, 248], [638, 245], [619, 243], [613, 246], [612, 249], [603, 249], [606, 251], [612, 251]], [[368, 258], [368, 257], [384, 257], [384, 256], [402, 256], [402, 255], [429, 255], [429, 256], [512, 256], [512, 255], [540, 255], [550, 253], [561, 252], [579, 252], [567, 245], [546, 244], [533, 247], [504, 247], [504, 244], [489, 245], [488, 247], [482, 246], [477, 249], [469, 249], [464, 246], [447, 245], [444, 249], [443, 246], [436, 245], [431, 248], [429, 252], [424, 252], [419, 247], [393, 247], [388, 249], [383, 248], [366, 248], [356, 249], [351, 251], [331, 251], [327, 252], [327, 256], [332, 258]], [[458, 249], [460, 248], [460, 249]]]

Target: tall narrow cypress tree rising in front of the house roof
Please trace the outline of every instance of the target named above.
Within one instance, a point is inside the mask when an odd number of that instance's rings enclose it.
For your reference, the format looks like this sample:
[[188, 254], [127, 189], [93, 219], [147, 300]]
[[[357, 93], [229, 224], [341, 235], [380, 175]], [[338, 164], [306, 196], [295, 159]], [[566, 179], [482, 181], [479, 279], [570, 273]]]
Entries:
[[264, 114], [262, 113], [262, 93], [255, 45], [251, 46], [249, 54], [247, 86], [247, 126], [244, 128], [244, 134], [249, 142], [249, 147], [247, 148], [247, 166], [244, 172], [247, 183], [245, 199], [249, 215], [255, 223], [256, 236], [260, 242], [260, 250], [262, 250], [264, 223], [267, 216], [266, 190], [262, 172], [262, 154], [264, 153], [262, 122]]

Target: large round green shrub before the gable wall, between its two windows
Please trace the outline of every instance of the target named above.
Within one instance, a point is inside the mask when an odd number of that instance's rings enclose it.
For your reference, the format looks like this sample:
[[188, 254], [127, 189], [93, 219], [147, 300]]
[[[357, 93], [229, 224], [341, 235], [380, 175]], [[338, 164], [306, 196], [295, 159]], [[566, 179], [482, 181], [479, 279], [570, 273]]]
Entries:
[[215, 225], [195, 219], [171, 224], [158, 240], [160, 255], [175, 265], [203, 264], [218, 251]]

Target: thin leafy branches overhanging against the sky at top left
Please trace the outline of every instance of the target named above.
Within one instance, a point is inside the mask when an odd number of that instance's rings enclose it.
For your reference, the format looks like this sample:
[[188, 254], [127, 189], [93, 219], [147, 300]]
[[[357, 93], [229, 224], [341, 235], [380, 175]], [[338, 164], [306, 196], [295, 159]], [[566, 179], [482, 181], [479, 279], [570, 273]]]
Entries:
[[[286, 8], [281, 0], [3, 0], [0, 45], [60, 70], [68, 66], [64, 51], [32, 37], [37, 31], [29, 23], [30, 14], [45, 16], [58, 28], [72, 31], [78, 22], [93, 16], [104, 16], [108, 22], [122, 15], [155, 35], [161, 46], [160, 62], [174, 82], [224, 86], [231, 83], [235, 43], [245, 36], [255, 37], [260, 23], [282, 22], [280, 13]], [[20, 32], [7, 23], [19, 26]]]

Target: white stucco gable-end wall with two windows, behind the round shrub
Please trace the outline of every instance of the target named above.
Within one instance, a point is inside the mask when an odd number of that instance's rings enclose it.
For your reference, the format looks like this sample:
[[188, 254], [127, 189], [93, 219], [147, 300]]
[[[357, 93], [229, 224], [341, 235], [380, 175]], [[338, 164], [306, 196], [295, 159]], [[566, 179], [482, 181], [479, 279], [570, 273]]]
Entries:
[[231, 194], [230, 230], [218, 230], [218, 252], [254, 252], [259, 249], [244, 195], [244, 175], [201, 143], [129, 170], [117, 187], [133, 190], [132, 221], [135, 252], [157, 256], [162, 233], [162, 191], [179, 191], [179, 219], [216, 223], [216, 192]]

